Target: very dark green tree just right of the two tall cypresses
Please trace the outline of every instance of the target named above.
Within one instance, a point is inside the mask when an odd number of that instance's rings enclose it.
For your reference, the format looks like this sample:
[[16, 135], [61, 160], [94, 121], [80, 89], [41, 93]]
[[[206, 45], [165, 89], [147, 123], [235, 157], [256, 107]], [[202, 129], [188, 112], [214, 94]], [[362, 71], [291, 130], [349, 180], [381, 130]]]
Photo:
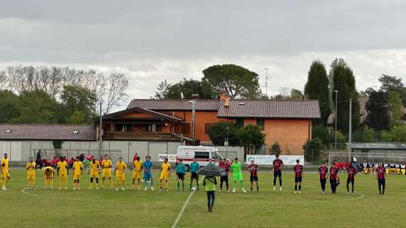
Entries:
[[370, 93], [368, 103], [365, 105], [367, 111], [366, 124], [374, 130], [386, 130], [389, 124], [387, 113], [387, 95], [382, 90]]

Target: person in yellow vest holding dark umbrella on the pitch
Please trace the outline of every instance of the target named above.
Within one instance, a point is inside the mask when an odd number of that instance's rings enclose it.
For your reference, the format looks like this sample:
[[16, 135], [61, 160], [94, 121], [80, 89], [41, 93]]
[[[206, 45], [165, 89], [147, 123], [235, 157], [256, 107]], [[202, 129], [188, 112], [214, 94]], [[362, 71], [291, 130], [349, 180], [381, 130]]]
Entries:
[[203, 186], [206, 189], [207, 195], [207, 209], [209, 212], [213, 212], [214, 200], [216, 199], [216, 177], [222, 177], [227, 175], [222, 167], [215, 165], [210, 165], [202, 167], [199, 172], [199, 175], [204, 175]]

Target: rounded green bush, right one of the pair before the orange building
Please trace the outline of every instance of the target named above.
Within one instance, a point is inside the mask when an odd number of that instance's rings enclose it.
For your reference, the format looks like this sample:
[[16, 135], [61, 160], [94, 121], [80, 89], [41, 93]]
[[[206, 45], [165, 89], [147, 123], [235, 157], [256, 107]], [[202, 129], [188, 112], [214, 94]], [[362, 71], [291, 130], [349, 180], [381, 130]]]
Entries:
[[264, 145], [265, 134], [262, 133], [258, 125], [245, 125], [239, 129], [239, 141], [249, 154], [254, 154]]

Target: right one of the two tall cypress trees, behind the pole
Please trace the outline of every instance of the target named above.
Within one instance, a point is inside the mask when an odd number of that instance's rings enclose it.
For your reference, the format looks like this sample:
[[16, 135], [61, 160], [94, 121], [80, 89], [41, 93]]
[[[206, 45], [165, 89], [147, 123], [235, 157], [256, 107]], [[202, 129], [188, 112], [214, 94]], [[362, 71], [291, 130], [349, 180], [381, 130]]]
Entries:
[[337, 110], [337, 128], [343, 133], [348, 133], [349, 123], [349, 100], [353, 99], [352, 105], [352, 123], [353, 131], [357, 130], [360, 125], [360, 103], [358, 103], [358, 93], [355, 88], [355, 78], [353, 71], [346, 65], [338, 63], [333, 69], [333, 93], [332, 97], [335, 100], [335, 91], [338, 90], [338, 110]]

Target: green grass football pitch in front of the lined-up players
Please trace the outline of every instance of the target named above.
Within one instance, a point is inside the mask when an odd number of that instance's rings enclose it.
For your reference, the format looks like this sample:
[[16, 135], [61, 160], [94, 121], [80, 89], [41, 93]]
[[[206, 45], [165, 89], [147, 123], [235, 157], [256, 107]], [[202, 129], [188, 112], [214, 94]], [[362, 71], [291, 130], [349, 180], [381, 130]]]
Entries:
[[[192, 195], [177, 227], [404, 226], [406, 176], [389, 175], [382, 196], [375, 176], [358, 175], [354, 195], [346, 195], [343, 184], [336, 195], [322, 195], [316, 173], [305, 175], [302, 194], [294, 195], [293, 174], [283, 173], [283, 192], [274, 192], [272, 173], [261, 172], [259, 193], [217, 192], [212, 213], [207, 212], [206, 194], [200, 190]], [[340, 177], [342, 182], [346, 179], [345, 174]], [[130, 178], [128, 172], [127, 187]], [[248, 173], [244, 178], [249, 180]], [[174, 175], [170, 192], [157, 191], [157, 180], [154, 192], [88, 190], [87, 174], [78, 191], [43, 190], [42, 170], [36, 171], [37, 190], [23, 190], [26, 185], [25, 170], [12, 169], [8, 190], [0, 192], [0, 227], [172, 227], [189, 196], [189, 191], [176, 191]], [[245, 187], [249, 190], [249, 182]]]

